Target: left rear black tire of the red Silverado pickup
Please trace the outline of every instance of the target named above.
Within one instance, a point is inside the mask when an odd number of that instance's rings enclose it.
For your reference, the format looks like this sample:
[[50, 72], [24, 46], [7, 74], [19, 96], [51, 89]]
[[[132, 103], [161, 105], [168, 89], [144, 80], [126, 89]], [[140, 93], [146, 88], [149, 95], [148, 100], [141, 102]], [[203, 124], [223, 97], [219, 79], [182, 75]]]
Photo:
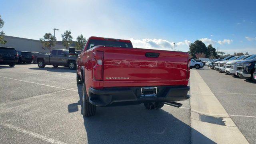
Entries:
[[88, 102], [87, 98], [87, 93], [86, 93], [86, 88], [85, 88], [85, 85], [83, 83], [83, 88], [82, 88], [82, 100], [83, 100], [83, 103], [82, 103], [82, 114], [85, 116], [85, 117], [88, 117], [88, 116], [94, 116], [95, 113], [96, 113], [96, 106], [95, 105], [92, 105], [90, 104], [90, 102]]

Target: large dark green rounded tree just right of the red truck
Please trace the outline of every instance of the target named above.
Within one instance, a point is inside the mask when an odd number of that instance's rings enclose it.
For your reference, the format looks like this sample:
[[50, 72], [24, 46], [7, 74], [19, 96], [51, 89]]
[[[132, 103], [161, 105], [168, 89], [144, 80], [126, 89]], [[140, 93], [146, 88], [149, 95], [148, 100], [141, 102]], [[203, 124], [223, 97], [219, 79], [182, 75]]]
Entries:
[[204, 53], [208, 56], [208, 51], [205, 44], [201, 40], [196, 40], [194, 43], [191, 43], [189, 46], [190, 55], [192, 58], [196, 58], [196, 54]]

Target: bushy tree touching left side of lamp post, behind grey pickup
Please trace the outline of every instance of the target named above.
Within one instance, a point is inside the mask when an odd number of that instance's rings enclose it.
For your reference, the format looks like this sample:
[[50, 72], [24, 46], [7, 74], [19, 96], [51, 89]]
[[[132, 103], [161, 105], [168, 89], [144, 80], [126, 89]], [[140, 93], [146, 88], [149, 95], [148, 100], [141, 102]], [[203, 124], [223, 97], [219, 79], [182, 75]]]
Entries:
[[40, 38], [40, 42], [43, 44], [44, 50], [47, 48], [51, 52], [56, 44], [56, 38], [51, 33], [46, 33], [44, 34], [44, 38]]

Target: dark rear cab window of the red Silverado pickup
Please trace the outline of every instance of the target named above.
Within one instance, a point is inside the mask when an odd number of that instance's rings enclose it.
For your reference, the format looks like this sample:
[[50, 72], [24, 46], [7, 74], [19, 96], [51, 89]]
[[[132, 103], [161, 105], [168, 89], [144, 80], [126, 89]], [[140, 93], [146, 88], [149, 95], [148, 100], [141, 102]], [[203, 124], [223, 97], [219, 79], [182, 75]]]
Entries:
[[112, 40], [90, 40], [86, 50], [94, 46], [115, 46], [122, 48], [132, 48], [132, 44], [128, 42], [112, 41]]

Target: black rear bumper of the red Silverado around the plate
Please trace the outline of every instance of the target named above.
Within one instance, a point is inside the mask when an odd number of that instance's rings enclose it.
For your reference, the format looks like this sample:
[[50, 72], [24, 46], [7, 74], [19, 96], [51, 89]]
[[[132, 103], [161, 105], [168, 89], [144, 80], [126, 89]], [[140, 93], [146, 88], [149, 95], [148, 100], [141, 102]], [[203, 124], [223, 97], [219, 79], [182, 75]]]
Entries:
[[[148, 87], [148, 86], [147, 86]], [[190, 98], [189, 86], [157, 86], [156, 96], [141, 97], [142, 87], [89, 88], [89, 102], [96, 106], [133, 105], [145, 102], [174, 102]]]

